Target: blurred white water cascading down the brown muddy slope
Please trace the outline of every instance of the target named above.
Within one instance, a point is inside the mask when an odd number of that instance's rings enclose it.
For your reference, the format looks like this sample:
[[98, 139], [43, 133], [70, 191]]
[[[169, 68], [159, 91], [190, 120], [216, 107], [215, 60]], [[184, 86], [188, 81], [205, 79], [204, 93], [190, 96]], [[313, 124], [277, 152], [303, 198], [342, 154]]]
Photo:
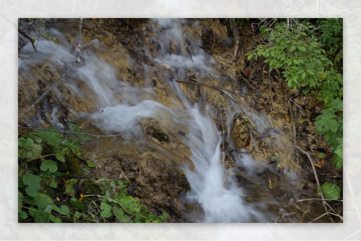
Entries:
[[[184, 19], [149, 20], [148, 42], [142, 43], [142, 53], [147, 62], [140, 65], [130, 58], [125, 60], [138, 78], [142, 78], [144, 84], [141, 86], [127, 82], [125, 74], [117, 74], [112, 63], [102, 54], [105, 48], [99, 40], [94, 39], [84, 45], [81, 66], [66, 78], [64, 84], [71, 89], [77, 100], [88, 102], [90, 107], [85, 110], [71, 108], [73, 115], [86, 120], [103, 133], [120, 133], [123, 145], [132, 143], [139, 149], [156, 148], [164, 155], [174, 155], [172, 148], [158, 145], [145, 133], [144, 124], [155, 120], [171, 141], [186, 146], [191, 152], [191, 165], [182, 161], [185, 157], [179, 155], [176, 162], [178, 168], [186, 172], [191, 185], [191, 191], [183, 197], [190, 220], [220, 223], [271, 222], [275, 213], [272, 205], [280, 205], [281, 199], [270, 198], [269, 195], [258, 201], [246, 201], [253, 193], [254, 186], [240, 185], [235, 176], [240, 172], [238, 168], [243, 168], [243, 177], [261, 183], [260, 173], [266, 168], [275, 173], [276, 169], [272, 170], [266, 162], [237, 151], [232, 153], [236, 160], [235, 167], [225, 167], [222, 164], [222, 133], [212, 118], [212, 113], [217, 112], [212, 97], [203, 92], [199, 101], [196, 101], [189, 93], [185, 94], [182, 84], [176, 82], [192, 75], [196, 75], [199, 80], [223, 81], [217, 61], [196, 46], [202, 45], [199, 24], [198, 21]], [[49, 33], [60, 39], [63, 35], [54, 29], [49, 30]], [[55, 47], [50, 46], [46, 40], [39, 40], [38, 52], [34, 53], [28, 44], [22, 49], [22, 59], [19, 60], [19, 78], [33, 78], [29, 71], [34, 64], [33, 60], [40, 64], [49, 62], [54, 68], [65, 66], [67, 60], [64, 61], [64, 56], [68, 60], [75, 57], [75, 53], [69, 54], [70, 49], [71, 46], [66, 41]], [[162, 71], [170, 74], [159, 74]], [[166, 101], [160, 101], [157, 92], [151, 88], [153, 73], [160, 75], [157, 77], [162, 78], [164, 84], [173, 90]], [[57, 95], [61, 96], [62, 93], [57, 92]], [[284, 146], [279, 138], [282, 133], [272, 128], [266, 117], [254, 113], [245, 104], [237, 105], [230, 99], [225, 102], [228, 106], [224, 122], [228, 128], [226, 141], [232, 148], [232, 121], [235, 114], [242, 111], [252, 119], [258, 133], [274, 136], [275, 141], [270, 145], [291, 152], [290, 146]], [[51, 120], [59, 122], [55, 115], [52, 115]], [[177, 155], [174, 156], [176, 159]], [[297, 182], [293, 175], [289, 178]], [[268, 183], [263, 185], [267, 187]]]

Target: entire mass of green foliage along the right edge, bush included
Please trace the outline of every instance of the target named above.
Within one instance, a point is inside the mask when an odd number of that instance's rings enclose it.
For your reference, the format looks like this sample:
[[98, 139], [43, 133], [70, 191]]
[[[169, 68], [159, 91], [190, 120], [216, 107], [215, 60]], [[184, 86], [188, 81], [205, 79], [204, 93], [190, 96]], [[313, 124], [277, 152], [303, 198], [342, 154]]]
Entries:
[[263, 22], [260, 31], [268, 43], [246, 54], [248, 60], [262, 57], [269, 71], [282, 72], [289, 87], [308, 85], [308, 93], [323, 101], [316, 134], [325, 135], [336, 168], [342, 168], [343, 76], [337, 66], [342, 62], [342, 19], [274, 19], [272, 27], [267, 19]]

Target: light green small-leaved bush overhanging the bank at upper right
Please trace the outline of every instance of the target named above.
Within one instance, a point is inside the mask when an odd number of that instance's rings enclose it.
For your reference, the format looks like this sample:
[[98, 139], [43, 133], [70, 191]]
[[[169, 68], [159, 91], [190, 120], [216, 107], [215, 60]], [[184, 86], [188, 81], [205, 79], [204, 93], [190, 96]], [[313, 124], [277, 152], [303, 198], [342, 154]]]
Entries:
[[[259, 56], [269, 65], [269, 71], [282, 69], [283, 77], [291, 88], [319, 85], [319, 75], [332, 63], [325, 57], [325, 50], [311, 34], [310, 26], [300, 25], [291, 30], [287, 25], [277, 25], [268, 31], [268, 45], [258, 45], [248, 53], [248, 60]], [[297, 31], [296, 33], [294, 31]]]

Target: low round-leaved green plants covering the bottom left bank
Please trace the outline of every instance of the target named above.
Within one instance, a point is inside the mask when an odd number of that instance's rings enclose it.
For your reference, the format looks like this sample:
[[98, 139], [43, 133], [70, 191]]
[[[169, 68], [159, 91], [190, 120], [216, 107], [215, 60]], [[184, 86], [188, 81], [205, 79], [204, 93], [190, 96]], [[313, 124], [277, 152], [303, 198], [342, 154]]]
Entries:
[[[70, 123], [70, 126], [73, 132], [79, 132], [75, 124]], [[82, 160], [80, 146], [88, 140], [91, 139], [84, 135], [63, 136], [46, 130], [24, 133], [19, 137], [19, 222], [165, 222], [168, 218], [165, 211], [159, 216], [151, 214], [140, 206], [138, 198], [127, 194], [125, 188], [129, 182], [118, 180], [117, 192], [109, 192], [115, 189], [116, 181], [102, 179], [92, 183], [69, 178], [72, 171], [69, 165]], [[86, 163], [88, 166], [82, 170], [89, 173], [95, 165], [90, 161]], [[85, 181], [91, 190], [99, 190], [99, 193], [103, 190], [105, 194], [79, 194], [79, 187]], [[58, 196], [63, 198], [60, 200]], [[99, 200], [102, 200], [99, 214], [86, 209], [86, 205]]]

